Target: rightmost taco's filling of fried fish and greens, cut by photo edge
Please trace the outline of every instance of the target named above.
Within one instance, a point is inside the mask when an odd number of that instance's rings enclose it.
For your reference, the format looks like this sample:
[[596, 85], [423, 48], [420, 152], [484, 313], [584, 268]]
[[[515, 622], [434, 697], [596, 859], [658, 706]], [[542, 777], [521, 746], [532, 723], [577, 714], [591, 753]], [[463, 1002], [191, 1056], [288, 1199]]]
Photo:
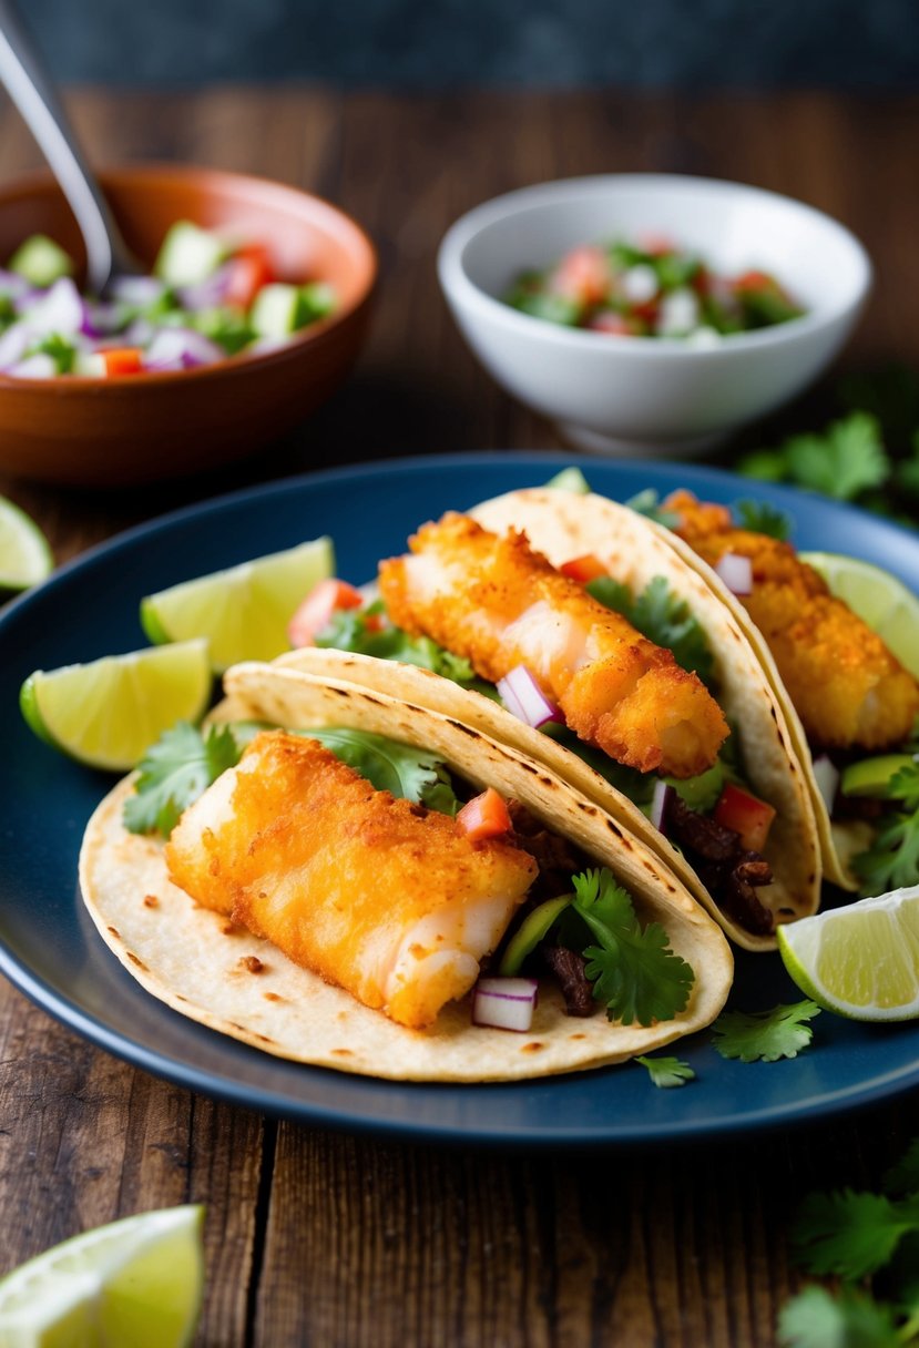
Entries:
[[738, 528], [725, 506], [682, 491], [663, 503], [672, 527], [720, 576], [775, 662], [806, 737], [814, 791], [829, 814], [830, 879], [879, 894], [919, 882], [904, 813], [919, 805], [919, 683], [881, 638], [783, 538]]

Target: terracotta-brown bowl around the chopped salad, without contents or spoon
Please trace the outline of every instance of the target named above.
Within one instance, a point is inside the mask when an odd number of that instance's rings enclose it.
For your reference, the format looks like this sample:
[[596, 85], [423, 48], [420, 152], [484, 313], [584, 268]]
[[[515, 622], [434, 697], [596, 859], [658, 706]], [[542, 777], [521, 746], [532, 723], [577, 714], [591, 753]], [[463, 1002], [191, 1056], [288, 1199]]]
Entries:
[[[1, 472], [105, 487], [198, 473], [252, 453], [334, 391], [361, 345], [377, 270], [349, 216], [295, 187], [212, 168], [144, 164], [100, 181], [141, 263], [152, 264], [174, 221], [191, 220], [267, 244], [283, 279], [327, 280], [340, 307], [288, 346], [197, 369], [110, 380], [0, 375]], [[0, 262], [34, 233], [85, 259], [70, 209], [44, 175], [0, 190]]]

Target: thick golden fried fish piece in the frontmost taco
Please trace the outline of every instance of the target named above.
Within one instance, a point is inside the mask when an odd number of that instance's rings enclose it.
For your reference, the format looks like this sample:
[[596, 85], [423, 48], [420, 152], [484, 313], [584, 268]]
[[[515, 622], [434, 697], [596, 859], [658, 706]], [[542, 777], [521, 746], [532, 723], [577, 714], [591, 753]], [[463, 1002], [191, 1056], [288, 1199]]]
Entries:
[[469, 991], [538, 869], [283, 732], [185, 811], [166, 860], [198, 903], [411, 1029]]

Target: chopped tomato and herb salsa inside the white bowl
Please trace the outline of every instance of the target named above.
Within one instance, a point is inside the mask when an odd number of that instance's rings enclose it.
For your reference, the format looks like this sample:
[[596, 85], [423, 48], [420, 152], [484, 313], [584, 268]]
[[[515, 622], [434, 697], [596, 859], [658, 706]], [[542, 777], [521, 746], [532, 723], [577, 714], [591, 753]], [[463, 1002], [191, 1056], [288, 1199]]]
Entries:
[[582, 244], [542, 271], [520, 272], [503, 297], [534, 318], [614, 337], [716, 344], [804, 310], [773, 275], [721, 275], [668, 239]]

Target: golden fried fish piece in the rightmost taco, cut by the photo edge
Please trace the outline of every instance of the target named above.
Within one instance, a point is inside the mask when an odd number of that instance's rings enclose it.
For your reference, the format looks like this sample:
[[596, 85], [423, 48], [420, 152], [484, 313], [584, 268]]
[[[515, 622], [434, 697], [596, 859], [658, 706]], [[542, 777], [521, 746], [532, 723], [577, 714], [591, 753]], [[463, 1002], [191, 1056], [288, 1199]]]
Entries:
[[910, 735], [919, 683], [790, 543], [734, 528], [726, 507], [686, 491], [664, 508], [679, 516], [676, 532], [710, 566], [725, 553], [752, 561], [753, 590], [741, 603], [815, 748], [881, 749]]

